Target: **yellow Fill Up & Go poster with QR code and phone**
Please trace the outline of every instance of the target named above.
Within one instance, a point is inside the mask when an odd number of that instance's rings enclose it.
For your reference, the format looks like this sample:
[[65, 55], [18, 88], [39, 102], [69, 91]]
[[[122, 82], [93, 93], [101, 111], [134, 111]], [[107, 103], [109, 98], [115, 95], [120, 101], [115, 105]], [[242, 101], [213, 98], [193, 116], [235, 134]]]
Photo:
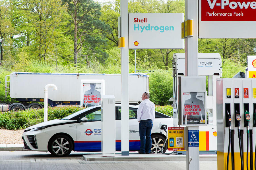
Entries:
[[168, 139], [168, 150], [185, 150], [184, 127], [169, 127]]

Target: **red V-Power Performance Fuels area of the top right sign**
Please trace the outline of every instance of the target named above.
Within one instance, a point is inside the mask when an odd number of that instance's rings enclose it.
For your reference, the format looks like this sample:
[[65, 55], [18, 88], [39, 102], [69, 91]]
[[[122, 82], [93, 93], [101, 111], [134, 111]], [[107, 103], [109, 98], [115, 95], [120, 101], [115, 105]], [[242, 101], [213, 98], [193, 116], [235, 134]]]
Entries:
[[201, 0], [202, 21], [256, 21], [256, 2]]

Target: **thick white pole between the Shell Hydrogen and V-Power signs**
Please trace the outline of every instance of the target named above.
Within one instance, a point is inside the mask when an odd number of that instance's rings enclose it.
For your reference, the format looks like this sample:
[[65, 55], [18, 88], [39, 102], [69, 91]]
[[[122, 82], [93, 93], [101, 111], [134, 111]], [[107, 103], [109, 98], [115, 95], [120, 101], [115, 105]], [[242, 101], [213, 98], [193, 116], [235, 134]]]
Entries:
[[[193, 37], [185, 38], [185, 76], [198, 76], [198, 1], [185, 0], [185, 20], [193, 19]], [[199, 130], [199, 126], [188, 126]], [[187, 147], [187, 170], [199, 169], [199, 147]]]

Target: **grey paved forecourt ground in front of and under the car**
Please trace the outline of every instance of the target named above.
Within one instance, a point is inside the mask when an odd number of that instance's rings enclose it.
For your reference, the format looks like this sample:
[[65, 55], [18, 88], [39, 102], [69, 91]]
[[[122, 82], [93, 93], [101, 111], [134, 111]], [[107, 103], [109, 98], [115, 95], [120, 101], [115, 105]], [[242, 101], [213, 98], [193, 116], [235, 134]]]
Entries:
[[[55, 158], [49, 152], [2, 151], [1, 170], [185, 170], [186, 161], [84, 161], [88, 152], [71, 152], [68, 157]], [[92, 153], [90, 153], [91, 155]], [[139, 155], [139, 154], [138, 154]], [[200, 170], [217, 170], [216, 158], [200, 161]]]

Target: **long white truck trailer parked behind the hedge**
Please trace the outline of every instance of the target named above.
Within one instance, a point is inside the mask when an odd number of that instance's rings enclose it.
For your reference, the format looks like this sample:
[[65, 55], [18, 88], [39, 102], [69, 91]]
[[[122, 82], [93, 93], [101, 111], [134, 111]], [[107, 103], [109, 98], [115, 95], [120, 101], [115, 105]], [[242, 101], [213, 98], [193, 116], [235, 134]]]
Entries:
[[[54, 91], [52, 88], [48, 89], [48, 103], [51, 106], [80, 105], [81, 80], [104, 80], [105, 95], [114, 95], [116, 103], [121, 102], [120, 74], [13, 72], [6, 77], [5, 91], [19, 103], [2, 105], [0, 110], [42, 108], [43, 106], [38, 102], [44, 102], [44, 87], [47, 84], [55, 84], [58, 89]], [[148, 91], [148, 75], [129, 74], [129, 102], [131, 104], [141, 102], [141, 95]]]

